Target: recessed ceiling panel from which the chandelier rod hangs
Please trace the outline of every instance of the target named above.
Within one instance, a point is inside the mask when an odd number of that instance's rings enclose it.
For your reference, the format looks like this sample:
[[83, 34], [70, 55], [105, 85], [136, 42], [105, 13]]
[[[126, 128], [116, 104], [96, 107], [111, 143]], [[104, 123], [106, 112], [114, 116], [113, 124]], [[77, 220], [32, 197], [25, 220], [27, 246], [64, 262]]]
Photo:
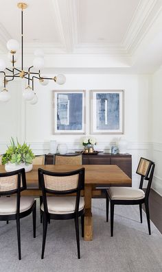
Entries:
[[[1, 1], [2, 2], [2, 1]], [[23, 11], [24, 42], [60, 42], [54, 6], [51, 0], [29, 0]], [[10, 38], [21, 41], [21, 10], [19, 0], [3, 1], [0, 9], [1, 27]]]

